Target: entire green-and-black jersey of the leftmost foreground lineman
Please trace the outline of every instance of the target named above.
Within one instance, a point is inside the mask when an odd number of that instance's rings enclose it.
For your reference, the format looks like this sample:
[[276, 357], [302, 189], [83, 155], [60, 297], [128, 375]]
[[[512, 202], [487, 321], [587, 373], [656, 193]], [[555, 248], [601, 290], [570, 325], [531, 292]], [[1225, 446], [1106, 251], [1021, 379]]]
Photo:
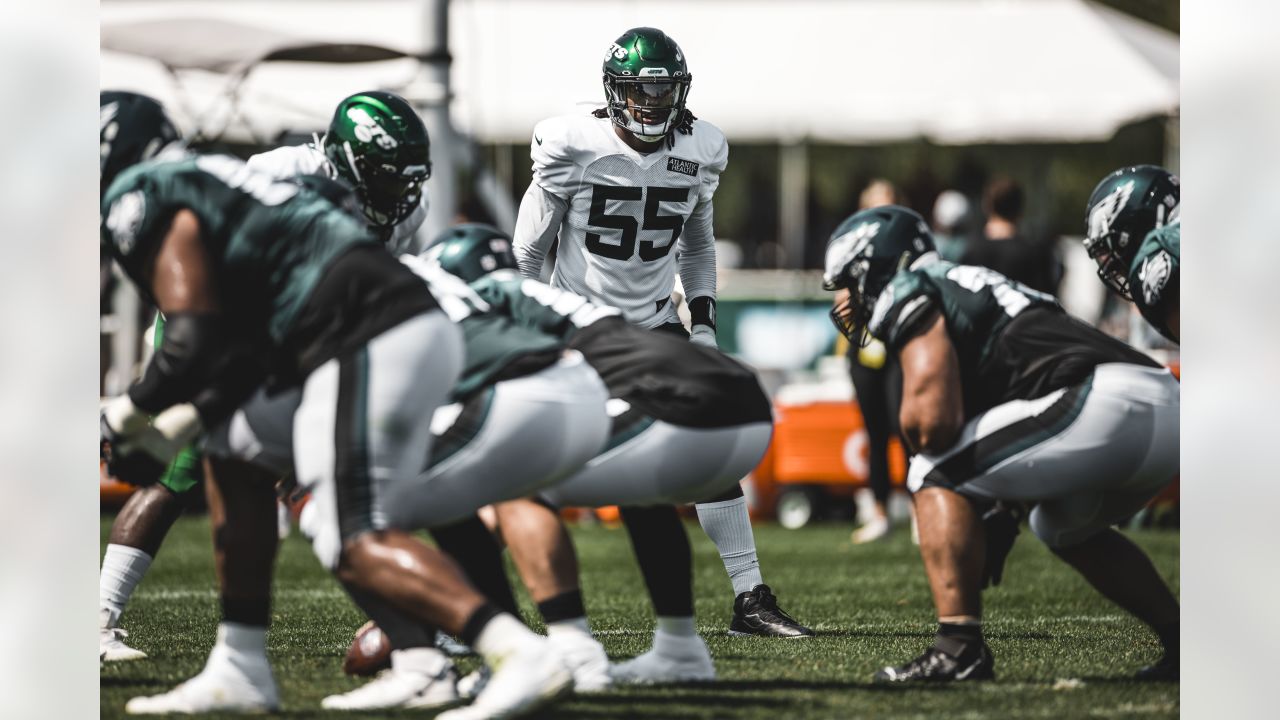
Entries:
[[143, 292], [179, 210], [200, 222], [227, 325], [270, 355], [278, 378], [297, 382], [436, 306], [360, 219], [221, 155], [142, 163], [104, 193], [102, 246]]

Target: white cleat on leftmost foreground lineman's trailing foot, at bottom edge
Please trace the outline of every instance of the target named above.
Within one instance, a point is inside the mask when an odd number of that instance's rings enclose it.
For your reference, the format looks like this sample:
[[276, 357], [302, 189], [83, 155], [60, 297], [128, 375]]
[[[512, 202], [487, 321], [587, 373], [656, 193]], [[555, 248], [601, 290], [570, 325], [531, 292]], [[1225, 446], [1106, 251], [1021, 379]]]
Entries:
[[572, 689], [573, 673], [550, 642], [539, 638], [521, 643], [495, 664], [474, 703], [443, 712], [436, 720], [520, 717]]

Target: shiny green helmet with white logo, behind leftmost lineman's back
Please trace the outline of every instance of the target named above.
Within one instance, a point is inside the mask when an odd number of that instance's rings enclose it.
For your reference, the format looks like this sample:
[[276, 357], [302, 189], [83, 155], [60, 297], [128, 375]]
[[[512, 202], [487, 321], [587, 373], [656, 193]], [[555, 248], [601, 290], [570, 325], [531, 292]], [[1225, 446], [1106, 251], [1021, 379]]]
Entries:
[[356, 190], [370, 225], [396, 225], [421, 204], [431, 143], [403, 97], [380, 91], [347, 97], [320, 145], [338, 177]]

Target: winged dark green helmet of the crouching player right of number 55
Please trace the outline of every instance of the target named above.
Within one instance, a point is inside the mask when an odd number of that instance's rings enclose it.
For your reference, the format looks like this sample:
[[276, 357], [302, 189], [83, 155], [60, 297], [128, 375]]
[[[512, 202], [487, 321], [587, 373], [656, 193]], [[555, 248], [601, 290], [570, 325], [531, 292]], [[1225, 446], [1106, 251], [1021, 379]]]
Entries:
[[822, 275], [824, 290], [847, 290], [831, 322], [851, 342], [867, 346], [876, 300], [900, 270], [936, 252], [929, 225], [914, 210], [884, 205], [854, 213], [831, 233]]

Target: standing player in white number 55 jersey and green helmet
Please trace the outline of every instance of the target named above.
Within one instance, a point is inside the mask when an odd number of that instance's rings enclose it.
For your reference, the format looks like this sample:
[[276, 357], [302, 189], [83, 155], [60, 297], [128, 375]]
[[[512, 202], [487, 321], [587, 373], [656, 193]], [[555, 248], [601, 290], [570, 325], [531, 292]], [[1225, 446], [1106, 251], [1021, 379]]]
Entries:
[[[686, 108], [692, 76], [660, 29], [628, 29], [605, 53], [605, 106], [534, 128], [534, 181], [520, 202], [520, 272], [538, 279], [559, 237], [550, 284], [622, 310], [641, 328], [716, 346], [712, 199], [728, 143]], [[692, 329], [671, 293], [680, 273]], [[764, 584], [739, 486], [698, 503], [736, 594], [731, 634], [806, 637]]]

